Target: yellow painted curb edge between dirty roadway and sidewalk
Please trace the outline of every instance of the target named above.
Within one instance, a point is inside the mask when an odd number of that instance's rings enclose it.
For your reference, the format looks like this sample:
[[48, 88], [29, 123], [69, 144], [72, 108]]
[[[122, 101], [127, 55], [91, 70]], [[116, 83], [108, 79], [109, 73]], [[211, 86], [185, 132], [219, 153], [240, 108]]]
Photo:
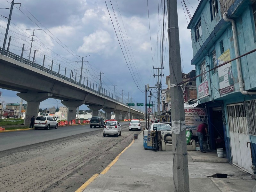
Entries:
[[90, 185], [92, 183], [93, 180], [95, 180], [99, 175], [103, 175], [105, 173], [108, 172], [108, 170], [117, 162], [118, 158], [124, 153], [124, 151], [126, 151], [126, 149], [128, 149], [129, 147], [131, 147], [131, 145], [134, 143], [134, 139], [132, 140], [132, 142], [130, 143], [130, 145], [128, 145], [126, 148], [124, 148], [123, 151], [121, 151], [116, 158], [100, 173], [100, 174], [94, 174], [92, 175], [92, 177], [90, 179], [88, 179], [80, 188], [78, 188], [75, 192], [82, 192], [88, 185]]

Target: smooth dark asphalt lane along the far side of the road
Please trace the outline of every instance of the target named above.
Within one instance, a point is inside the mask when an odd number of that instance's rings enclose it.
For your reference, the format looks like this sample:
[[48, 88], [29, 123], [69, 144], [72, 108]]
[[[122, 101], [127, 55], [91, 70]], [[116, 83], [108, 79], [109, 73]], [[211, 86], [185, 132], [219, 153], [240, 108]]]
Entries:
[[[129, 122], [120, 122], [121, 125], [129, 124]], [[92, 132], [96, 130], [103, 130], [103, 128], [90, 128], [86, 125], [60, 126], [58, 129], [38, 129], [15, 132], [0, 133], [0, 151], [32, 145], [49, 140], [60, 139], [72, 135], [77, 135], [85, 132]], [[103, 133], [102, 133], [103, 134]]]

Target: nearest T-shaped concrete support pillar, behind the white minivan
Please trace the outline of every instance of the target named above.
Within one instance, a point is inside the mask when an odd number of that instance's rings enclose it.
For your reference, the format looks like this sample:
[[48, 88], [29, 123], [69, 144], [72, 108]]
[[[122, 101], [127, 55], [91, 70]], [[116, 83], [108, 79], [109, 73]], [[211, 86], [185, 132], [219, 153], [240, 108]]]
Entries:
[[17, 93], [17, 96], [19, 96], [21, 99], [27, 101], [24, 125], [30, 125], [30, 119], [33, 116], [37, 117], [37, 115], [38, 115], [40, 102], [52, 97], [52, 94], [29, 91], [27, 93]]

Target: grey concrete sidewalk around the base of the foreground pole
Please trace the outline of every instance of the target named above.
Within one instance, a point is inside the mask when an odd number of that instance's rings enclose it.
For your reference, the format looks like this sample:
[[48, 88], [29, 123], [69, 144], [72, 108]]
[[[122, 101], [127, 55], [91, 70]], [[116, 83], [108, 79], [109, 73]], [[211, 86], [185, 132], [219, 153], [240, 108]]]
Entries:
[[[190, 192], [251, 192], [256, 185], [250, 174], [228, 163], [194, 162], [188, 155], [188, 168]], [[173, 191], [172, 151], [144, 150], [141, 133], [104, 173], [81, 191]], [[226, 173], [228, 178], [211, 177], [216, 173]]]

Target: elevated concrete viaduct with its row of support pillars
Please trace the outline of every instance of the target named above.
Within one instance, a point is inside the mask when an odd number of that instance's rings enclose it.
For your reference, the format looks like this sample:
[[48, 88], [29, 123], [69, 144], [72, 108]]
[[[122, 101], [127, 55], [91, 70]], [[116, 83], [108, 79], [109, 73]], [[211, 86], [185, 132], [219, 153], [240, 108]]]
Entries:
[[[4, 55], [0, 55], [0, 68], [0, 88], [20, 92], [17, 95], [27, 101], [26, 125], [30, 124], [33, 115], [38, 114], [40, 102], [48, 98], [62, 100], [61, 103], [68, 107], [68, 121], [76, 117], [76, 108], [83, 104], [92, 109], [92, 116], [98, 116], [100, 109], [107, 113], [108, 119], [113, 111], [116, 114], [128, 113], [128, 106], [108, 95], [71, 83], [68, 77], [62, 79], [53, 76], [43, 71], [44, 68], [40, 70]], [[130, 109], [130, 113], [141, 118], [144, 116], [144, 113], [136, 109]]]

